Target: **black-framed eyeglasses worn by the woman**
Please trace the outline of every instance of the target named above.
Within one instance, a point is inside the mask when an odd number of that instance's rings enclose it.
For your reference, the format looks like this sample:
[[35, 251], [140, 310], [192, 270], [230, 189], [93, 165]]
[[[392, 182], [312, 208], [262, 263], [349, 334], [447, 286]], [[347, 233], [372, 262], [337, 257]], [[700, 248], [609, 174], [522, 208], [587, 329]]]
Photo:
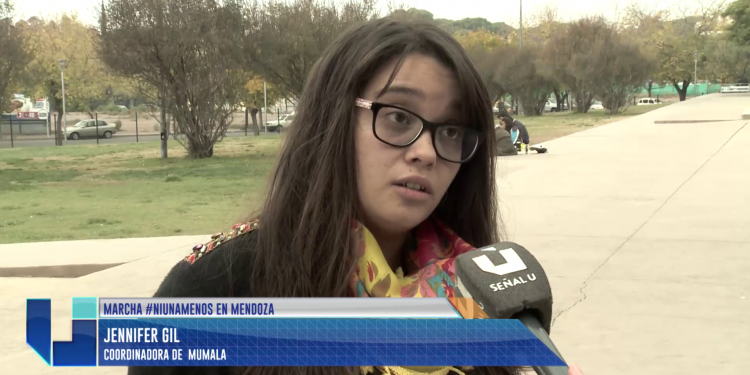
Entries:
[[408, 147], [427, 129], [437, 155], [452, 163], [471, 160], [482, 142], [478, 130], [456, 124], [435, 124], [418, 114], [395, 105], [357, 99], [354, 105], [372, 111], [375, 138], [394, 147]]

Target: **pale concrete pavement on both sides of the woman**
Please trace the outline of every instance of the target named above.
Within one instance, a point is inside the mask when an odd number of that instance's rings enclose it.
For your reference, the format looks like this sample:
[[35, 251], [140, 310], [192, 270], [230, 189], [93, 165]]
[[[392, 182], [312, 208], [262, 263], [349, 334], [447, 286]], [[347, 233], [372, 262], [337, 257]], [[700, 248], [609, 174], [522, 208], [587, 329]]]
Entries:
[[[750, 95], [707, 95], [500, 159], [508, 238], [544, 264], [553, 339], [586, 374], [750, 368], [748, 107]], [[696, 119], [734, 121], [661, 123]], [[25, 298], [52, 296], [52, 337], [67, 340], [71, 297], [150, 296], [203, 239], [0, 245], [0, 268], [124, 263], [74, 279], [0, 278], [0, 369], [124, 374], [43, 365], [24, 344]]]

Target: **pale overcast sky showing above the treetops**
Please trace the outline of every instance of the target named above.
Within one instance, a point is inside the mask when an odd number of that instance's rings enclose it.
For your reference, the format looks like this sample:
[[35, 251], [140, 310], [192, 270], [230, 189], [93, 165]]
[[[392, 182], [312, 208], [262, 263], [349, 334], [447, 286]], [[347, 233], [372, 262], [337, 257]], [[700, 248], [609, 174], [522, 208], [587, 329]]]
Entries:
[[[378, 0], [382, 9], [386, 9], [388, 0]], [[613, 17], [617, 6], [622, 8], [631, 0], [396, 0], [395, 3], [407, 7], [426, 9], [435, 18], [461, 19], [467, 17], [484, 17], [491, 22], [506, 22], [512, 26], [518, 25], [519, 2], [523, 1], [524, 18], [544, 4], [556, 4], [559, 15], [563, 20], [576, 19], [583, 15], [604, 15]], [[679, 3], [694, 2], [694, 0], [632, 0], [647, 4], [659, 3], [659, 7], [675, 6]], [[16, 10], [19, 16], [49, 16], [56, 13], [78, 13], [86, 23], [95, 23], [95, 9], [101, 0], [16, 0]], [[528, 22], [528, 21], [527, 21]]]

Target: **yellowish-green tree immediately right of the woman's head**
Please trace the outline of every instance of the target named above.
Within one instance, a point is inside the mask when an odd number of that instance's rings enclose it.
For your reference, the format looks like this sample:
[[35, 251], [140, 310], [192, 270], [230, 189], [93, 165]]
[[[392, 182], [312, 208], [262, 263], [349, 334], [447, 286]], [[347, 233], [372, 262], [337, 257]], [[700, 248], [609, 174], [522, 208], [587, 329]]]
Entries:
[[504, 96], [507, 90], [495, 78], [503, 58], [502, 47], [506, 45], [505, 40], [484, 29], [460, 32], [455, 38], [464, 47], [474, 67], [482, 76], [492, 103]]

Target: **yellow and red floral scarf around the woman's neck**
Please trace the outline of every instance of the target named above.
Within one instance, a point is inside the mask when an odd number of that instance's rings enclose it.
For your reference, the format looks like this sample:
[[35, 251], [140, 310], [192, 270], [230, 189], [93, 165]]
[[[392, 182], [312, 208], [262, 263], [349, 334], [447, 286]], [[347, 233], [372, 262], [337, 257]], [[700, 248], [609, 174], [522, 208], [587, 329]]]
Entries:
[[[445, 297], [465, 318], [486, 318], [476, 304], [454, 298], [454, 263], [458, 255], [475, 248], [438, 220], [428, 219], [417, 227], [407, 246], [404, 270], [391, 270], [375, 237], [364, 225], [352, 223], [359, 260], [351, 287], [357, 297]], [[470, 368], [463, 368], [469, 370]], [[453, 367], [379, 367], [383, 374], [463, 374]], [[362, 374], [374, 371], [363, 367]]]

